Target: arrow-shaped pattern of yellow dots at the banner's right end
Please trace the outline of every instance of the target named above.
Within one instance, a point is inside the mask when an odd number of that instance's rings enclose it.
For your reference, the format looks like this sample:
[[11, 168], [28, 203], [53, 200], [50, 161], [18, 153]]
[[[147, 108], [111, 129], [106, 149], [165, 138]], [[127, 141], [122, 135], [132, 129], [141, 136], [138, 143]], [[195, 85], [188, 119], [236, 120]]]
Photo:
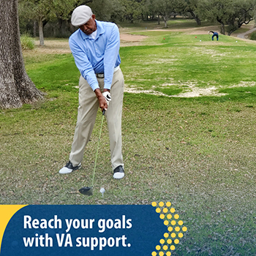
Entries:
[[171, 205], [170, 202], [151, 203], [151, 206], [156, 208], [159, 218], [167, 226], [167, 233], [164, 233], [163, 238], [159, 240], [159, 244], [155, 247], [157, 252], [152, 252], [152, 256], [170, 256], [178, 245], [179, 239], [184, 236], [184, 232], [187, 232], [187, 227], [184, 226], [184, 222], [179, 219], [179, 215], [175, 213], [176, 210]]

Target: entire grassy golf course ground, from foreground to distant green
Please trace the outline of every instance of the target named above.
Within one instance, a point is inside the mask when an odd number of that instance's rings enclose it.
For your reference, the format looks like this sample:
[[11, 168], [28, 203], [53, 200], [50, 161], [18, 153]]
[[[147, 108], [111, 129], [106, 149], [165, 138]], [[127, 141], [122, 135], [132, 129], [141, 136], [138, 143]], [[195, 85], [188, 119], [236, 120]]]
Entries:
[[78, 192], [91, 185], [100, 112], [82, 169], [59, 175], [75, 131], [79, 72], [71, 54], [25, 53], [29, 76], [47, 95], [0, 112], [0, 203], [170, 201], [188, 227], [172, 255], [256, 255], [255, 42], [136, 33], [147, 36], [141, 45], [120, 50], [125, 178], [113, 180], [105, 122], [94, 195]]

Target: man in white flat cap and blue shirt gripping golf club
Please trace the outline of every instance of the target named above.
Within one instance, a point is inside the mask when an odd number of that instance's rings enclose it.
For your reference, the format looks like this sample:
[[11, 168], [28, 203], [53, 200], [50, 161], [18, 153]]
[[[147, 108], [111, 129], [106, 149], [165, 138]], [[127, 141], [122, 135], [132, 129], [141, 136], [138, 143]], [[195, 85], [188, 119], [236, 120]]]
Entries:
[[119, 64], [120, 37], [114, 23], [95, 19], [91, 8], [81, 5], [72, 13], [71, 23], [79, 29], [69, 37], [69, 47], [80, 71], [78, 121], [69, 162], [59, 173], [80, 168], [98, 108], [105, 111], [110, 138], [113, 178], [124, 178], [121, 153], [121, 113], [124, 76]]

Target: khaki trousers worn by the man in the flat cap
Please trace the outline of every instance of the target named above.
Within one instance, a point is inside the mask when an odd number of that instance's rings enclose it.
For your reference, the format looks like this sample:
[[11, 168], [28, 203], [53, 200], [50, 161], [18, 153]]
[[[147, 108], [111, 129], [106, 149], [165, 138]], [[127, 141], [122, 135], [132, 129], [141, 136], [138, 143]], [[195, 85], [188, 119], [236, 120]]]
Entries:
[[[97, 78], [97, 80], [100, 90], [103, 91], [104, 78]], [[121, 153], [121, 114], [124, 98], [124, 76], [121, 69], [118, 69], [113, 74], [110, 94], [111, 102], [108, 105], [105, 117], [108, 122], [111, 164], [114, 170], [119, 165], [124, 166]], [[98, 109], [99, 102], [94, 91], [92, 91], [89, 83], [80, 76], [78, 121], [69, 155], [69, 160], [73, 166], [78, 165], [83, 160], [83, 152], [91, 137]]]

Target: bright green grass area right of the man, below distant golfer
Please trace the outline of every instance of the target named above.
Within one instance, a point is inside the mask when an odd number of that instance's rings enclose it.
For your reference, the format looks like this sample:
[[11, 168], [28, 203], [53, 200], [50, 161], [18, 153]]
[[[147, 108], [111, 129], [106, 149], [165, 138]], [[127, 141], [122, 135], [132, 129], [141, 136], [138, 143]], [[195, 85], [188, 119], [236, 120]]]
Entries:
[[[196, 87], [219, 89], [255, 85], [255, 43], [220, 35], [140, 32], [146, 45], [121, 49], [128, 87], [173, 95]], [[136, 58], [135, 58], [136, 56]], [[168, 92], [170, 91], [170, 92]]]

